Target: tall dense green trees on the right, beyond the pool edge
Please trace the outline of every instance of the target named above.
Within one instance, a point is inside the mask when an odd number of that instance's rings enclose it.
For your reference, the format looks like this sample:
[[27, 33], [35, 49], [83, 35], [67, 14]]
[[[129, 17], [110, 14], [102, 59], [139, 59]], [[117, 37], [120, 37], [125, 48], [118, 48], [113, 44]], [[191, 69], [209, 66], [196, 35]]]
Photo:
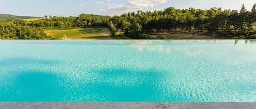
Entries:
[[145, 34], [201, 32], [215, 36], [251, 38], [256, 27], [255, 4], [251, 11], [242, 5], [240, 11], [222, 10], [221, 8], [175, 9], [160, 11], [128, 12], [110, 18], [110, 27], [121, 28], [124, 35], [132, 39], [145, 39]]

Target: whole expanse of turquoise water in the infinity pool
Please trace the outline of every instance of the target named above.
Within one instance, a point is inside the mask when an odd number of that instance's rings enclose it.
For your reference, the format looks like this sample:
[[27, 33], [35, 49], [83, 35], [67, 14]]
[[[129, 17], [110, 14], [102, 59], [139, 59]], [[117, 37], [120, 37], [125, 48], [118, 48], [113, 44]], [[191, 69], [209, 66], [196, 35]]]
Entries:
[[1, 40], [0, 101], [256, 102], [256, 40]]

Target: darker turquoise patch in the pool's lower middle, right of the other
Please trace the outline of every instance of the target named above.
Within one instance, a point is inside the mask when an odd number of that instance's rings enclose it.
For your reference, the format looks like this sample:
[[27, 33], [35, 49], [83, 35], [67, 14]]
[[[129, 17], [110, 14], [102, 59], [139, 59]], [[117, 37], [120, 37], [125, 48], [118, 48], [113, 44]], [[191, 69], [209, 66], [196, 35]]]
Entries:
[[105, 68], [95, 70], [93, 75], [97, 77], [90, 86], [103, 101], [156, 101], [162, 93], [158, 85], [165, 79], [154, 69]]

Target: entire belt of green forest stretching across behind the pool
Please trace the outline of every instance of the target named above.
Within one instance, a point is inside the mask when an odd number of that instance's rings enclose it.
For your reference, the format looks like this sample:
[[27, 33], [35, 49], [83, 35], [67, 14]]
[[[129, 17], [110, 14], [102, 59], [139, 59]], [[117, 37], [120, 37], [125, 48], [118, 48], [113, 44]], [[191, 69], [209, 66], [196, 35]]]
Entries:
[[132, 39], [148, 39], [156, 33], [203, 33], [227, 39], [256, 39], [256, 10], [221, 8], [175, 9], [128, 12], [120, 16], [81, 14], [78, 17], [46, 16], [38, 20], [0, 20], [0, 39], [52, 39], [44, 30], [109, 27], [112, 35], [120, 28]]

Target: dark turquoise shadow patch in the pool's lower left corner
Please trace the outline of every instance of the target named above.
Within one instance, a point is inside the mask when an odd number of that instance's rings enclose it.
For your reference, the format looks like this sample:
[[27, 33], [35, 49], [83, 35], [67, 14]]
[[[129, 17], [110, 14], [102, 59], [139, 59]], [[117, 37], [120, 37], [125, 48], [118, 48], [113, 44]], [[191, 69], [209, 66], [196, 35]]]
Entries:
[[59, 101], [63, 97], [63, 88], [54, 73], [25, 71], [13, 78], [8, 83], [10, 86], [5, 87], [1, 101]]

